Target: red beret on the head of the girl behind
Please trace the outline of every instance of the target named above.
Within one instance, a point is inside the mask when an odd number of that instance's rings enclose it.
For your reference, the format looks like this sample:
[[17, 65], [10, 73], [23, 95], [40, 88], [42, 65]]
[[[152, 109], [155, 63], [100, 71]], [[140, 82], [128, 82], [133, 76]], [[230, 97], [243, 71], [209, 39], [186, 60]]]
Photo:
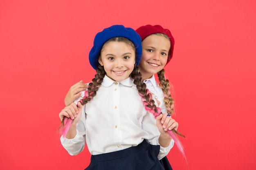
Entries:
[[148, 37], [149, 35], [154, 34], [154, 33], [163, 33], [163, 34], [167, 35], [171, 42], [171, 48], [169, 51], [169, 55], [168, 55], [166, 64], [171, 60], [171, 58], [173, 57], [174, 38], [173, 38], [173, 35], [171, 35], [170, 30], [164, 29], [160, 25], [154, 25], [154, 26], [145, 25], [145, 26], [139, 27], [136, 30], [136, 32], [140, 35], [141, 41], [143, 41], [146, 37]]

